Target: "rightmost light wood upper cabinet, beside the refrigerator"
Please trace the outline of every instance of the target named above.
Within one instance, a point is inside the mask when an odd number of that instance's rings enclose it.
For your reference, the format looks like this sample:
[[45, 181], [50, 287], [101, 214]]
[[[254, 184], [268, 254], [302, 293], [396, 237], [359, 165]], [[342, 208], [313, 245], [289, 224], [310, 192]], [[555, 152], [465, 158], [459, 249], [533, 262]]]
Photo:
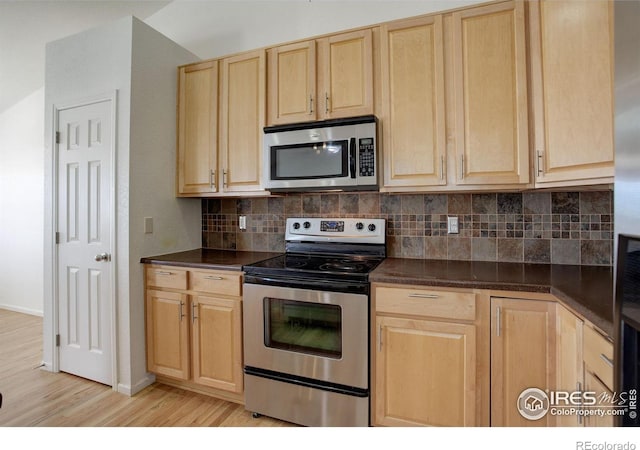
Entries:
[[536, 186], [612, 183], [613, 2], [528, 2]]

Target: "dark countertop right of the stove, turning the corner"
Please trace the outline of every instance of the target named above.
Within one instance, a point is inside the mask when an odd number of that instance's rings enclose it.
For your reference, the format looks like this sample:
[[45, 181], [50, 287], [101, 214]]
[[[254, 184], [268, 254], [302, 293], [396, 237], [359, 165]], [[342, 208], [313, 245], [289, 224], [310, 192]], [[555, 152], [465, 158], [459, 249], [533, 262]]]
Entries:
[[613, 270], [601, 266], [387, 258], [371, 282], [550, 293], [613, 336]]

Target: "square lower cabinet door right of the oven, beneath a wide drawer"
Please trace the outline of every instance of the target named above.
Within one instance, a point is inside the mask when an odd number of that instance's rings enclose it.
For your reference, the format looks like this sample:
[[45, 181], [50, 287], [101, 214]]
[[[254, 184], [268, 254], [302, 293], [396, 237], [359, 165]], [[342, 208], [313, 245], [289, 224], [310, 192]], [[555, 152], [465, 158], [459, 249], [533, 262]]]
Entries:
[[378, 316], [375, 424], [474, 426], [473, 325]]

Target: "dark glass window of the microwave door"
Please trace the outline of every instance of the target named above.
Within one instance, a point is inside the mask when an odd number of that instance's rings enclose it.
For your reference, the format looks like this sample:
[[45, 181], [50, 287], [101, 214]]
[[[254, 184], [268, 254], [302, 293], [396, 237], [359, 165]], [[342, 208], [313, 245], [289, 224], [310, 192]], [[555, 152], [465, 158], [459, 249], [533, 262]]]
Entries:
[[349, 142], [327, 141], [271, 147], [271, 179], [349, 176]]

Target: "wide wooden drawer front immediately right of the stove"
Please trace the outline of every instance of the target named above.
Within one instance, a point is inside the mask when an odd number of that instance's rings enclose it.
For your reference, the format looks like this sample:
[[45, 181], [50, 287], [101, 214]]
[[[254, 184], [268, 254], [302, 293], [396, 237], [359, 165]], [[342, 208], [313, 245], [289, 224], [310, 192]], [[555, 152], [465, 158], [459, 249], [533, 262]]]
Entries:
[[472, 292], [438, 291], [377, 287], [376, 312], [474, 320], [476, 294]]

